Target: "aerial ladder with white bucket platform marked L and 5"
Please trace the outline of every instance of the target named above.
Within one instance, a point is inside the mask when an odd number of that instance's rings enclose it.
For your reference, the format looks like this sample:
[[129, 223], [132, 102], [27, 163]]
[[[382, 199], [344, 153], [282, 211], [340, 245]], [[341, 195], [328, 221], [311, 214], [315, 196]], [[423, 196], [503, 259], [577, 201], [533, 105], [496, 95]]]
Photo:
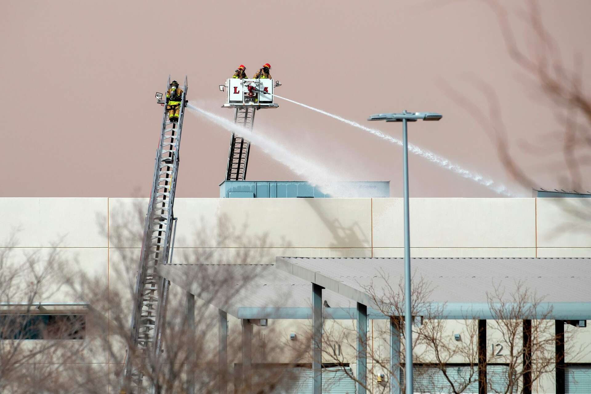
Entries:
[[[281, 83], [279, 81], [274, 83], [272, 79], [230, 78], [226, 80], [225, 84], [219, 86], [222, 92], [225, 91], [225, 88], [228, 89], [226, 90], [226, 102], [222, 107], [233, 108], [234, 123], [252, 131], [257, 110], [278, 108], [279, 105], [273, 102], [273, 89], [278, 86], [281, 86]], [[232, 133], [228, 166], [226, 167], [226, 181], [245, 180], [250, 148], [250, 141]]]

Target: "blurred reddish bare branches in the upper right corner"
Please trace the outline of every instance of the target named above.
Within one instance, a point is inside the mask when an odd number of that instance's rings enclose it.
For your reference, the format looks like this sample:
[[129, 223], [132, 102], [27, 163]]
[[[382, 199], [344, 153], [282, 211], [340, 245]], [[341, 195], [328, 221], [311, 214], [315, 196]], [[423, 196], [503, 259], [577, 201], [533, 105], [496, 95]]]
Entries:
[[[495, 87], [483, 77], [470, 78], [486, 99], [488, 108], [482, 108], [472, 97], [449, 84], [445, 84], [444, 89], [491, 137], [505, 170], [520, 185], [528, 189], [541, 186], [535, 174], [517, 159], [518, 155], [541, 152], [548, 158], [546, 170], [556, 174], [558, 190], [591, 193], [588, 177], [585, 177], [591, 165], [591, 96], [584, 89], [582, 53], [575, 53], [572, 62], [565, 60], [560, 41], [543, 21], [540, 2], [527, 0], [525, 8], [511, 3], [511, 8], [516, 9], [513, 12], [498, 0], [482, 2], [494, 13], [506, 51], [518, 67], [520, 78], [516, 86], [521, 84], [524, 89], [531, 89], [535, 100], [545, 101], [560, 128], [548, 129], [541, 140], [519, 141], [521, 152], [517, 152], [509, 138], [511, 130], [504, 122], [502, 97]], [[516, 33], [521, 30], [525, 31], [524, 40], [519, 40]], [[585, 227], [589, 231], [591, 213], [580, 203], [565, 199], [559, 204], [573, 221], [587, 223]]]

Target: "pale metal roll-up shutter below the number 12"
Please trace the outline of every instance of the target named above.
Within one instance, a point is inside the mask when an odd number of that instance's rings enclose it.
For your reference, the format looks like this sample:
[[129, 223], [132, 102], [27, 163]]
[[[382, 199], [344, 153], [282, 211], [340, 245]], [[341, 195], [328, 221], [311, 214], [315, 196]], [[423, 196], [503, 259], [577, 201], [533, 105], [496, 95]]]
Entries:
[[[504, 365], [486, 366], [486, 383], [489, 392], [505, 392], [508, 382], [509, 367]], [[452, 380], [456, 390], [467, 383], [463, 393], [478, 393], [478, 366], [447, 366], [447, 376]], [[400, 371], [400, 385], [404, 387], [404, 370]], [[413, 383], [415, 393], [452, 393], [452, 386], [443, 372], [437, 367], [415, 366], [413, 368]], [[514, 387], [513, 392], [517, 392]]]

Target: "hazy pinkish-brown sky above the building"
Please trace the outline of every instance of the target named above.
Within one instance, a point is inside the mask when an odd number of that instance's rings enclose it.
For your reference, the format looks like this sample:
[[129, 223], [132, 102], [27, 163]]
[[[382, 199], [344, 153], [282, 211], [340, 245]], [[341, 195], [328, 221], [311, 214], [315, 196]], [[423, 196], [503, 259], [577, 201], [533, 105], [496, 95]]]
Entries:
[[[591, 2], [539, 3], [566, 63], [581, 54], [588, 75]], [[524, 5], [504, 4], [511, 12]], [[561, 147], [547, 138], [560, 128], [556, 114], [524, 83], [495, 15], [478, 0], [21, 0], [2, 2], [0, 11], [0, 196], [147, 196], [162, 117], [154, 92], [163, 91], [168, 74], [188, 74], [190, 102], [230, 118], [232, 110], [219, 108], [217, 85], [238, 64], [252, 74], [266, 62], [283, 83], [278, 94], [397, 138], [400, 124], [369, 123], [367, 116], [443, 113], [439, 123], [411, 123], [410, 141], [511, 186], [489, 135], [444, 88], [486, 110], [472, 82], [485, 81], [495, 87], [512, 151], [528, 174], [538, 185], [564, 187]], [[512, 21], [522, 34], [522, 21]], [[255, 128], [339, 177], [391, 180], [392, 196], [401, 195], [400, 146], [277, 102], [280, 108], [257, 113]], [[177, 196], [218, 196], [229, 133], [191, 113], [183, 131]], [[540, 149], [525, 152], [524, 141]], [[411, 196], [496, 195], [415, 155], [410, 168]], [[248, 178], [301, 179], [256, 146]]]

